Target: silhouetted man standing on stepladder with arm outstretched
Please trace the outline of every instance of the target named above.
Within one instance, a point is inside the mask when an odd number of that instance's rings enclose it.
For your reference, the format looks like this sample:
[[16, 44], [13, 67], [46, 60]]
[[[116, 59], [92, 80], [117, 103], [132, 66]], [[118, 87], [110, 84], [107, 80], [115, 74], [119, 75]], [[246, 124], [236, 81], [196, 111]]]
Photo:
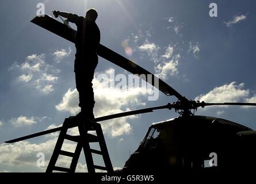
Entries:
[[75, 83], [79, 93], [79, 107], [81, 112], [77, 116], [83, 116], [94, 119], [94, 93], [93, 76], [94, 70], [98, 64], [97, 48], [100, 45], [100, 29], [95, 20], [98, 17], [95, 9], [86, 11], [85, 17], [79, 17], [76, 14], [53, 11], [54, 16], [66, 17], [68, 21], [77, 25], [77, 34], [75, 35]]

